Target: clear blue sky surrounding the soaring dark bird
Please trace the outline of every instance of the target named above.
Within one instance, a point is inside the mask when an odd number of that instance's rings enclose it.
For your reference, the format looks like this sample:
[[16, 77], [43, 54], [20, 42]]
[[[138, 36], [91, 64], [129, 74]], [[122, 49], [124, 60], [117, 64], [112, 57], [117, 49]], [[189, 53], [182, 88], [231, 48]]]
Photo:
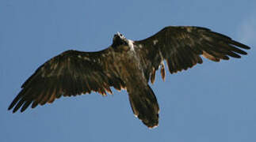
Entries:
[[[256, 1], [0, 1], [0, 141], [256, 141]], [[159, 127], [132, 114], [126, 92], [61, 98], [7, 111], [21, 84], [64, 50], [102, 50], [121, 32], [144, 39], [168, 25], [211, 28], [252, 47], [242, 59], [157, 73]]]

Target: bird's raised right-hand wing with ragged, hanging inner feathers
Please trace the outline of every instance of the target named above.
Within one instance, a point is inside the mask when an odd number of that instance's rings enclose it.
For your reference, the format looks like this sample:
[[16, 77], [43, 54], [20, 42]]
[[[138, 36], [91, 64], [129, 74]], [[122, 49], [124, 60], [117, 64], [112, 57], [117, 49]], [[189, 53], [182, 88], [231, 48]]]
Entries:
[[[155, 70], [162, 66], [162, 78], [165, 77], [163, 60], [166, 60], [170, 73], [189, 69], [202, 63], [201, 56], [214, 62], [229, 57], [241, 58], [246, 54], [246, 45], [232, 40], [208, 28], [200, 27], [166, 27], [147, 39], [134, 42], [143, 62], [144, 74], [151, 83], [155, 81]], [[228, 57], [229, 56], [229, 57]]]

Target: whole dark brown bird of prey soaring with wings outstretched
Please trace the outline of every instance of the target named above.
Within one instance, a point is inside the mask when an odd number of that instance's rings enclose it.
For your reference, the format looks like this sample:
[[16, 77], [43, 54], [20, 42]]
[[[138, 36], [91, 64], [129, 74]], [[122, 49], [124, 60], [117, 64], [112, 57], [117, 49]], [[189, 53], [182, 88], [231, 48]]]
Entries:
[[52, 103], [61, 96], [90, 92], [112, 94], [110, 87], [124, 89], [133, 113], [147, 127], [159, 124], [159, 104], [149, 86], [160, 69], [165, 79], [165, 65], [170, 73], [178, 73], [203, 62], [241, 58], [250, 47], [208, 28], [169, 26], [155, 35], [138, 41], [126, 39], [117, 32], [105, 50], [83, 52], [67, 50], [41, 65], [21, 85], [21, 92], [8, 110], [26, 110], [30, 104]]

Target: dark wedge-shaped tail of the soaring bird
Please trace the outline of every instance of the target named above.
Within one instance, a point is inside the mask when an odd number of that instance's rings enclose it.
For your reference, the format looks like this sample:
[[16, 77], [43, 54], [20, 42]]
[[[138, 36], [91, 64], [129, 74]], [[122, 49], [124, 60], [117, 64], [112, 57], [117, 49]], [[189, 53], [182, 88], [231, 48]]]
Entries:
[[159, 104], [154, 92], [147, 85], [145, 88], [128, 90], [132, 111], [147, 127], [159, 125]]

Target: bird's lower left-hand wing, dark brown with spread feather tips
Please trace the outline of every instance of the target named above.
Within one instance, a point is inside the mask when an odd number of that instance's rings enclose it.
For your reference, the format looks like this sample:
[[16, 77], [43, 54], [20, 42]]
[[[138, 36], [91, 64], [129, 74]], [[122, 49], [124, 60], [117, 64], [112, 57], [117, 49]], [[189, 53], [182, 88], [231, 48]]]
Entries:
[[111, 50], [99, 52], [81, 52], [67, 50], [41, 65], [36, 72], [22, 84], [21, 92], [10, 104], [13, 113], [21, 107], [24, 111], [32, 103], [52, 103], [60, 96], [81, 95], [92, 91], [106, 95], [112, 93], [109, 87], [124, 88], [124, 82], [118, 74], [109, 70], [113, 58], [108, 56]]

